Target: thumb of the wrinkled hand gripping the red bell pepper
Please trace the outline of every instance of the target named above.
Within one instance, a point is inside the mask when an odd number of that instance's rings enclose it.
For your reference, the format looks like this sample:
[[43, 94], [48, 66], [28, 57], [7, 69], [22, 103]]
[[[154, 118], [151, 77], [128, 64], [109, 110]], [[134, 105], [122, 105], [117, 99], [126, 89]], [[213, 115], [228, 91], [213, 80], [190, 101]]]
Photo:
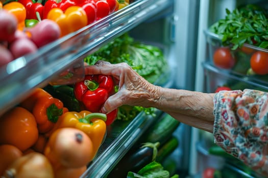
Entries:
[[120, 92], [110, 96], [104, 103], [101, 112], [109, 113], [119, 106], [123, 105], [122, 100], [120, 99]]

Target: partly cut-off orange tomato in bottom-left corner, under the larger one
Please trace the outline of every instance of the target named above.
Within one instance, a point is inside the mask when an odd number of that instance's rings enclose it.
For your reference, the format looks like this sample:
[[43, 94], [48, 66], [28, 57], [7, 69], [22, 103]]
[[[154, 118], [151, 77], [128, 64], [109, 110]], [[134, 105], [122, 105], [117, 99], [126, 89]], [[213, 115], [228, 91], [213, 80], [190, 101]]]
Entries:
[[0, 145], [0, 175], [4, 173], [7, 167], [16, 159], [22, 156], [22, 152], [11, 144]]

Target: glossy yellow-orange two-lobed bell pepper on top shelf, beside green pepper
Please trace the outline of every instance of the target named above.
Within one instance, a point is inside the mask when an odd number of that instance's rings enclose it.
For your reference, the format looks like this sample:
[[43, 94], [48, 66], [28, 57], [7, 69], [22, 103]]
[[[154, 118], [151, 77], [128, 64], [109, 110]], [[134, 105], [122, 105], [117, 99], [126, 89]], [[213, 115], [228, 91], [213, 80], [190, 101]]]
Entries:
[[87, 25], [87, 14], [79, 6], [71, 6], [65, 12], [60, 8], [53, 8], [48, 12], [47, 19], [55, 21], [60, 26], [61, 37]]

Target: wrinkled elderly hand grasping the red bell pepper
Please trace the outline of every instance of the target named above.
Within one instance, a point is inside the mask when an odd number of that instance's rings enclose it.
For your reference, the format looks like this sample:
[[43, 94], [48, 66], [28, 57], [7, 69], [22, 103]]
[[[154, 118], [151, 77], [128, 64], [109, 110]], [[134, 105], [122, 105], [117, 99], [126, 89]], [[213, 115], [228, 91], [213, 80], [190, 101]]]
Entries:
[[118, 92], [103, 105], [103, 113], [109, 113], [121, 105], [150, 107], [159, 93], [157, 86], [145, 80], [126, 63], [113, 65], [98, 61], [95, 65], [86, 66], [85, 73], [111, 75], [119, 85]]

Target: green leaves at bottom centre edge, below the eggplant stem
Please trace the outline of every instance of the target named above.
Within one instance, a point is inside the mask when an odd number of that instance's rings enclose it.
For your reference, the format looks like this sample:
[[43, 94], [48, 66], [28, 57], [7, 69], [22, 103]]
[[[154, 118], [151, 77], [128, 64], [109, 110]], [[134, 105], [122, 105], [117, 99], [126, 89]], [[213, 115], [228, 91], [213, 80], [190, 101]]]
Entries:
[[[163, 169], [163, 166], [158, 162], [151, 162], [145, 167], [141, 168], [137, 173], [128, 172], [128, 178], [169, 178], [169, 172]], [[172, 178], [177, 178], [179, 175], [175, 174]]]

